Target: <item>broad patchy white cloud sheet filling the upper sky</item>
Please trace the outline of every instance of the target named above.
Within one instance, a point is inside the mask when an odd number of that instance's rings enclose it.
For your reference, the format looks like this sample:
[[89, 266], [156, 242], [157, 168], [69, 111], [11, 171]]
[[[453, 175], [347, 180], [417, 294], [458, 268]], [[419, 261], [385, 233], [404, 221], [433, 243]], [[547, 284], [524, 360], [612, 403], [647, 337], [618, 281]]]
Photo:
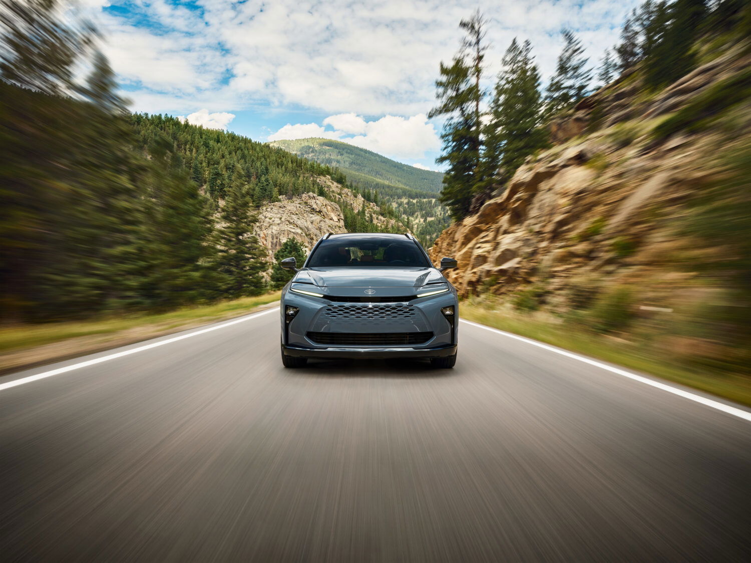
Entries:
[[[324, 125], [349, 131], [357, 122], [346, 125], [342, 116], [427, 113], [434, 104], [439, 62], [456, 52], [459, 20], [477, 7], [490, 17], [490, 84], [514, 37], [532, 41], [542, 74], [549, 76], [564, 26], [578, 33], [595, 65], [640, 2], [201, 0], [202, 9], [191, 10], [164, 0], [135, 0], [128, 6], [137, 17], [102, 11], [98, 19], [110, 38], [113, 68], [138, 93], [163, 95], [164, 103], [182, 98], [192, 107], [207, 107], [196, 100], [218, 95], [231, 101], [224, 107], [237, 110], [254, 104], [309, 108], [335, 119]], [[167, 109], [172, 108], [150, 108]]]

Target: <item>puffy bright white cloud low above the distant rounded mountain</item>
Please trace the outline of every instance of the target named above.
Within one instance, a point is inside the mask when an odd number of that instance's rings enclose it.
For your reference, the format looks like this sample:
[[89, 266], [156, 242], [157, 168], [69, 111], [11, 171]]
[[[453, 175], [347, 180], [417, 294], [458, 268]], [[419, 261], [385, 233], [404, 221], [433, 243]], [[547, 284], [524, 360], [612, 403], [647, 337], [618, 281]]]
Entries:
[[[333, 127], [333, 131], [327, 129], [327, 125]], [[357, 132], [360, 134], [347, 137]], [[342, 140], [398, 161], [424, 158], [425, 152], [434, 151], [440, 147], [436, 128], [427, 121], [424, 113], [409, 118], [384, 116], [370, 122], [354, 113], [339, 114], [324, 119], [323, 126], [315, 123], [287, 124], [276, 133], [270, 134], [268, 140], [304, 139], [306, 137]]]

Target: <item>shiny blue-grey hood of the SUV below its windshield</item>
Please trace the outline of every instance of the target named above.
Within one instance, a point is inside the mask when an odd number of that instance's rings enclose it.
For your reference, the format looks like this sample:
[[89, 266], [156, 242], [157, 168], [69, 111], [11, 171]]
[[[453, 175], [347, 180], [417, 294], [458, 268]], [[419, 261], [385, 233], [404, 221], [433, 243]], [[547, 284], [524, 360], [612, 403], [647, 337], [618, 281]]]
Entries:
[[435, 268], [306, 268], [292, 278], [293, 283], [319, 288], [410, 288], [418, 290], [436, 281], [446, 281]]

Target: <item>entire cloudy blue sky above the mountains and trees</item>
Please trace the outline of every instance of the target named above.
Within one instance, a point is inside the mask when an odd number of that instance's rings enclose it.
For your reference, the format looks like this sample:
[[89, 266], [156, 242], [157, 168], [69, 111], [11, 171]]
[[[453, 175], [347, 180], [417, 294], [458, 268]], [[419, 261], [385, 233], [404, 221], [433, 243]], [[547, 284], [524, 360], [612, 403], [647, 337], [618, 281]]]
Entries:
[[596, 67], [638, 0], [81, 0], [104, 35], [131, 110], [182, 116], [267, 141], [328, 137], [439, 170], [442, 121], [427, 119], [441, 61], [475, 9], [487, 85], [511, 40], [529, 39], [544, 80], [581, 38]]

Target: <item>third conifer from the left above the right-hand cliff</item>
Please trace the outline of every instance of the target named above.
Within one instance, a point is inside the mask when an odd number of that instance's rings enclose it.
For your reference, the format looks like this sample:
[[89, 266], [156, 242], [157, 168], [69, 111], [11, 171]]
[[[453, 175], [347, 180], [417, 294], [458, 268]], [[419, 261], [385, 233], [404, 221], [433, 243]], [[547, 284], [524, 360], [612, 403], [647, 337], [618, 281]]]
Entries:
[[582, 56], [581, 41], [569, 29], [562, 31], [565, 44], [558, 57], [556, 73], [547, 86], [547, 115], [553, 116], [576, 104], [587, 95], [592, 74], [585, 68], [589, 59]]

